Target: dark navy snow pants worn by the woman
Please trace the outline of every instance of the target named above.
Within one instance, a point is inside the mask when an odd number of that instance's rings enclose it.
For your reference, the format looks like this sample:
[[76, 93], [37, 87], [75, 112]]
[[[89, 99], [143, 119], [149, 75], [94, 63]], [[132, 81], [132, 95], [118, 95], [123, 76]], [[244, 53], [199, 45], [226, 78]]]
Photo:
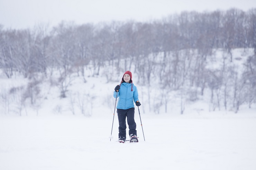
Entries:
[[130, 109], [117, 109], [118, 121], [119, 121], [119, 138], [126, 139], [126, 117], [129, 126], [129, 136], [135, 134], [137, 136], [136, 123], [134, 120], [134, 110]]

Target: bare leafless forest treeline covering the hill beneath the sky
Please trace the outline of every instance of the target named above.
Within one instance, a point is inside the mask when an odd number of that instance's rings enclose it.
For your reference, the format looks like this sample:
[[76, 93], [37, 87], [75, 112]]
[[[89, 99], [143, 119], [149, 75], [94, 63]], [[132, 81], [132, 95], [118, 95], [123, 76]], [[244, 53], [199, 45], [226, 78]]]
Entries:
[[[232, 66], [232, 50], [237, 48], [254, 51], [243, 72]], [[208, 69], [216, 49], [223, 50], [221, 67]], [[241, 104], [250, 107], [256, 102], [256, 8], [185, 11], [148, 22], [77, 25], [63, 21], [53, 28], [18, 30], [0, 25], [0, 69], [8, 78], [15, 72], [24, 78], [51, 76], [57, 69], [61, 97], [66, 97], [68, 83], [64, 82], [72, 73], [86, 82], [86, 67], [95, 76], [106, 64], [111, 66], [109, 74], [133, 68], [139, 83], [150, 83], [154, 77], [165, 91], [195, 89], [189, 90], [190, 100], [208, 88], [214, 108], [230, 105], [237, 112]], [[168, 101], [157, 106], [164, 103]]]

